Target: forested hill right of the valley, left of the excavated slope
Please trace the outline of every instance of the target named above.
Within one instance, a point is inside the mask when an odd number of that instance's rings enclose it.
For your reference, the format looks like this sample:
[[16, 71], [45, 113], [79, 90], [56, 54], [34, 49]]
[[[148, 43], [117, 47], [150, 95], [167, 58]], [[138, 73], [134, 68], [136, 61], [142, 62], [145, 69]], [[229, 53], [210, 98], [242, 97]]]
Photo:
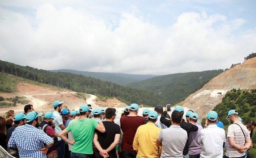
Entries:
[[223, 70], [220, 69], [169, 74], [128, 84], [128, 86], [154, 92], [168, 103], [176, 104], [202, 88], [204, 84], [222, 72]]

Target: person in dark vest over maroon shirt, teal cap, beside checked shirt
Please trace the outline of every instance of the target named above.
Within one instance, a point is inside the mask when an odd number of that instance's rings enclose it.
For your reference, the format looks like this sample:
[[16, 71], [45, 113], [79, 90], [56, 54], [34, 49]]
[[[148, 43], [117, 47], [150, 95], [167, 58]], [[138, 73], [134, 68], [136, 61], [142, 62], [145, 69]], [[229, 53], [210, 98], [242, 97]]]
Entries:
[[55, 131], [55, 123], [53, 120], [56, 119], [56, 116], [53, 115], [52, 112], [48, 111], [44, 114], [44, 120], [40, 123], [38, 129], [41, 129], [46, 133], [49, 137], [52, 137], [54, 140], [54, 144], [50, 147], [46, 153], [47, 157], [53, 158], [57, 157], [57, 149], [58, 149], [58, 133]]

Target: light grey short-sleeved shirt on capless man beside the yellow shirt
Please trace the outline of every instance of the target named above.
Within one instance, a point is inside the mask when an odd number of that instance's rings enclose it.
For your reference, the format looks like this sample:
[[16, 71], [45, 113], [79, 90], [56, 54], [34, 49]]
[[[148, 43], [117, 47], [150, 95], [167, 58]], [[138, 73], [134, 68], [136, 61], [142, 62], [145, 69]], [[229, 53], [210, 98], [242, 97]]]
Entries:
[[162, 141], [161, 158], [183, 158], [183, 149], [188, 139], [187, 132], [180, 126], [171, 125], [162, 129], [158, 140]]

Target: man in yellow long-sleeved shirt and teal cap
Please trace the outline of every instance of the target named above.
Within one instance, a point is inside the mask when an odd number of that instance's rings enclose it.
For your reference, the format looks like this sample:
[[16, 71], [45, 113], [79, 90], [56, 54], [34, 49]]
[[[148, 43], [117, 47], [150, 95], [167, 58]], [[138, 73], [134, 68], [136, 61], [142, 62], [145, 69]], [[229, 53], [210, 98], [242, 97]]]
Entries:
[[136, 131], [132, 146], [137, 152], [138, 158], [159, 157], [159, 145], [156, 144], [156, 139], [161, 129], [155, 125], [157, 118], [158, 113], [156, 111], [149, 111], [148, 123], [141, 125]]

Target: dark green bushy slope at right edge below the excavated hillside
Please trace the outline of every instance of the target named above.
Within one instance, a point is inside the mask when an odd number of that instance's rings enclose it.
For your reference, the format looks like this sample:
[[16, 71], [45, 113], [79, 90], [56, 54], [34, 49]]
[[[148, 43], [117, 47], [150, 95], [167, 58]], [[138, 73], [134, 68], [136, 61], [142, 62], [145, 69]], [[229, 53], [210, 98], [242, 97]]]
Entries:
[[236, 90], [233, 89], [226, 93], [222, 102], [213, 109], [218, 113], [220, 121], [224, 125], [229, 122], [226, 119], [228, 111], [236, 109], [244, 123], [256, 121], [256, 89], [255, 90]]

